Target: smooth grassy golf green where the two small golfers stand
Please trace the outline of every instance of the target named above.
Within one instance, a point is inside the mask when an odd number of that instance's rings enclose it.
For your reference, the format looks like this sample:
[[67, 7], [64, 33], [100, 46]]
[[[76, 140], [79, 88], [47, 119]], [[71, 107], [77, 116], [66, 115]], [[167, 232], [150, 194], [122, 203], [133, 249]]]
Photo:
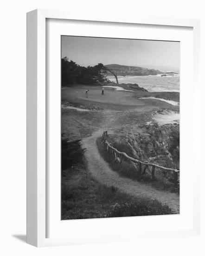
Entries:
[[[89, 98], [85, 98], [85, 90], [89, 89]], [[141, 104], [143, 101], [139, 101], [140, 97], [157, 97], [164, 98], [167, 100], [175, 100], [178, 101], [179, 93], [174, 92], [126, 92], [126, 91], [114, 91], [112, 89], [106, 89], [105, 95], [101, 96], [101, 88], [99, 86], [83, 86], [83, 85], [75, 85], [74, 87], [65, 88], [62, 90], [62, 102], [70, 102], [73, 106], [83, 105], [85, 108], [93, 108], [97, 107], [100, 109], [109, 109], [109, 110], [128, 110], [128, 109], [136, 109], [141, 108]], [[126, 97], [126, 101], [125, 101]], [[149, 111], [152, 109], [161, 109], [161, 108], [169, 108], [176, 109], [177, 106], [170, 105], [164, 101], [153, 101], [147, 100], [146, 105], [143, 105], [143, 109], [145, 111]]]

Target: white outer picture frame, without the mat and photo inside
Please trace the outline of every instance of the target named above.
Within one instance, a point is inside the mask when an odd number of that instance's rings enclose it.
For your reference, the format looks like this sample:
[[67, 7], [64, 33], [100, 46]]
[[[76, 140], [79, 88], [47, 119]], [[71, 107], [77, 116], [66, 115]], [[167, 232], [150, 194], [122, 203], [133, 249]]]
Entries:
[[[181, 229], [160, 232], [144, 232], [141, 234], [122, 234], [113, 238], [90, 234], [89, 238], [83, 236], [56, 236], [47, 238], [46, 235], [46, 19], [59, 20], [89, 20], [110, 23], [144, 24], [161, 26], [192, 27], [193, 29], [193, 52], [194, 52], [194, 111], [195, 126], [194, 136], [196, 143], [196, 169], [193, 176], [193, 229]], [[103, 13], [96, 17], [95, 13], [89, 17], [84, 13], [77, 15], [74, 12], [55, 10], [34, 10], [27, 13], [27, 243], [37, 247], [70, 245], [78, 243], [111, 242], [147, 237], [181, 237], [198, 236], [200, 232], [199, 210], [199, 127], [200, 127], [200, 86], [199, 86], [199, 20], [169, 19], [169, 18], [144, 18], [130, 17], [123, 20]], [[198, 97], [198, 98], [197, 98]], [[97, 220], [95, 220], [96, 222]], [[109, 233], [109, 230], [108, 230]], [[98, 234], [99, 235], [99, 234]]]

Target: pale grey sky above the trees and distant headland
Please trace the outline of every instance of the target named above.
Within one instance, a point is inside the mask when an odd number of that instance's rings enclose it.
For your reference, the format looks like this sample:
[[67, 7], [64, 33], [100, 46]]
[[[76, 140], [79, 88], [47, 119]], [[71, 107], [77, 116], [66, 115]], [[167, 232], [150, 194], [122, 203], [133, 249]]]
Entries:
[[180, 42], [62, 36], [61, 57], [84, 67], [102, 63], [179, 71]]

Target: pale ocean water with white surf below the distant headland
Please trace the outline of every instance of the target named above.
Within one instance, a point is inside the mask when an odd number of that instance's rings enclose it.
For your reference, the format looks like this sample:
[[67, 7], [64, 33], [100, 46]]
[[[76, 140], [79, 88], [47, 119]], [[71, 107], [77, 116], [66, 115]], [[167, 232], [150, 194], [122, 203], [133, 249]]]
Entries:
[[[107, 76], [110, 81], [115, 82], [113, 76]], [[161, 75], [141, 75], [141, 76], [118, 76], [119, 84], [136, 83], [140, 87], [148, 90], [148, 92], [179, 92], [180, 77], [179, 74], [174, 76]]]

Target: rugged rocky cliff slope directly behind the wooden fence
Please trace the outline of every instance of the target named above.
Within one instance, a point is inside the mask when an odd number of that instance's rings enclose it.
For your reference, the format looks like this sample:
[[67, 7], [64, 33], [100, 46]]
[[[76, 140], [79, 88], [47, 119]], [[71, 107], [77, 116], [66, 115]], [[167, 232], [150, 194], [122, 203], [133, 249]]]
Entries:
[[114, 148], [142, 161], [179, 168], [179, 125], [141, 125], [138, 132], [110, 135]]

